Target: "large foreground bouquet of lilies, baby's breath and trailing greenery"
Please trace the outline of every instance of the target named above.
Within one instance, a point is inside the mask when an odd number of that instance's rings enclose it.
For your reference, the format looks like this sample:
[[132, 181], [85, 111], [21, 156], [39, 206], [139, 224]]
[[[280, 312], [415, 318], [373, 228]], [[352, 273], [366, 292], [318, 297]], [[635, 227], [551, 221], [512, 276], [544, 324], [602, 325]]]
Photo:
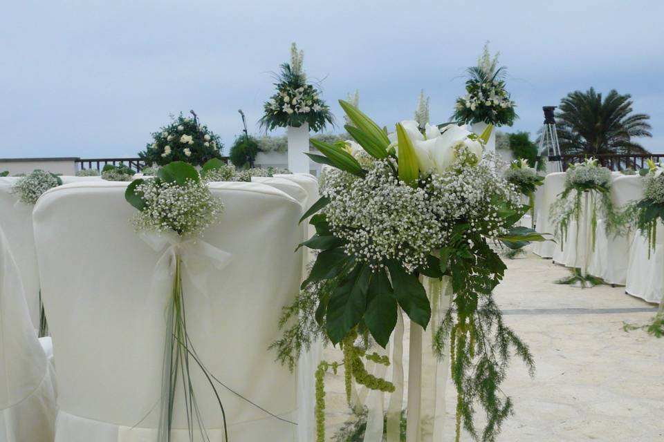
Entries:
[[[431, 326], [434, 352], [441, 358], [447, 346], [452, 352], [457, 434], [463, 421], [479, 437], [473, 419], [479, 403], [489, 419], [483, 438], [494, 440], [512, 409], [499, 390], [508, 347], [531, 369], [533, 360], [502, 323], [492, 299], [506, 267], [490, 242], [544, 238], [514, 227], [528, 206], [520, 204], [515, 186], [497, 172], [496, 158], [483, 155], [491, 126], [478, 136], [456, 124], [442, 130], [425, 124], [421, 130], [417, 122], [405, 121], [388, 134], [356, 107], [340, 104], [353, 123], [346, 129], [354, 141], [311, 140], [322, 155], [308, 154], [331, 166], [322, 198], [303, 217], [311, 216], [316, 233], [302, 245], [318, 254], [297, 302], [315, 305], [315, 323], [299, 321], [288, 329], [274, 345], [278, 358], [296, 360], [293, 352], [302, 348], [297, 336], [322, 335], [342, 346], [342, 363], [324, 361], [319, 367], [317, 410], [324, 405], [320, 372], [339, 365], [346, 373], [347, 394], [352, 380], [391, 392], [394, 385], [367, 374], [363, 361], [389, 363], [370, 351], [371, 343], [387, 345], [399, 309], [413, 324], [430, 325], [432, 302], [438, 298], [430, 300], [425, 285], [440, 287], [445, 278], [454, 290], [454, 308]], [[293, 315], [291, 307], [286, 312]], [[311, 309], [301, 313], [311, 315]], [[320, 413], [317, 429], [322, 441]]]

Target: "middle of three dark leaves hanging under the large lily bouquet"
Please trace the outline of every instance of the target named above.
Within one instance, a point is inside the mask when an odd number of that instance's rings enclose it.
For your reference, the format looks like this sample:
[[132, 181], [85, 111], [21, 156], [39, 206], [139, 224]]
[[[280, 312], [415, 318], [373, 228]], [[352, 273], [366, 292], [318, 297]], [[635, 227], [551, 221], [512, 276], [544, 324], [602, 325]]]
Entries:
[[385, 268], [374, 273], [367, 291], [365, 324], [376, 342], [385, 348], [396, 325], [396, 299]]

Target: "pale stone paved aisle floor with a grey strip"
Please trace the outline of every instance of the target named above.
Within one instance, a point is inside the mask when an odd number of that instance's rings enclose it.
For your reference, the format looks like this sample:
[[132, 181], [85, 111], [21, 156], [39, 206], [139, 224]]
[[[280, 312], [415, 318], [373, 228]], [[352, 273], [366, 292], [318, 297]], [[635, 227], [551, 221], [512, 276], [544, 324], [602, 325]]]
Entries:
[[[515, 415], [499, 441], [664, 442], [664, 338], [622, 328], [623, 321], [646, 323], [656, 306], [623, 287], [554, 284], [567, 274], [532, 254], [508, 260], [495, 296], [506, 323], [530, 345], [537, 374], [531, 379], [513, 358], [503, 390], [513, 397]], [[326, 350], [329, 360], [339, 356]], [[349, 416], [340, 375], [326, 378], [328, 436]], [[451, 383], [446, 395], [448, 442], [454, 440]]]

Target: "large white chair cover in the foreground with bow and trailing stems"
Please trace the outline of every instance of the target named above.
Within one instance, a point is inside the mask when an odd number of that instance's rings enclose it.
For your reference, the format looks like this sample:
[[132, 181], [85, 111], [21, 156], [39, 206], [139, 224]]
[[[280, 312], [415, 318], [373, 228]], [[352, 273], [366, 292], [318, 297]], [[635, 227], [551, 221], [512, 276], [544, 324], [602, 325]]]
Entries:
[[[156, 441], [165, 311], [172, 279], [153, 278], [162, 252], [133, 231], [136, 210], [127, 183], [68, 184], [35, 207], [35, 242], [43, 299], [57, 354], [57, 442]], [[225, 209], [203, 240], [232, 254], [207, 273], [214, 293], [202, 294], [183, 275], [187, 329], [210, 372], [266, 410], [293, 420], [295, 375], [275, 362], [284, 305], [297, 293], [302, 207], [257, 183], [210, 184]], [[223, 440], [223, 421], [203, 374], [192, 369], [210, 441]], [[216, 385], [233, 442], [294, 441], [279, 421]], [[180, 394], [178, 392], [178, 394]], [[176, 399], [172, 441], [188, 441], [183, 398]]]

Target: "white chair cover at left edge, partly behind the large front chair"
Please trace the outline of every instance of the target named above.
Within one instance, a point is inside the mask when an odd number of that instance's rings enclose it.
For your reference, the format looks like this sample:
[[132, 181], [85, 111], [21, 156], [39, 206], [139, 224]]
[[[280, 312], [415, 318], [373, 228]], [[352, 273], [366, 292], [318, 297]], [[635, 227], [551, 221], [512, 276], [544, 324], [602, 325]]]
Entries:
[[39, 270], [33, 237], [33, 206], [10, 193], [18, 177], [0, 177], [0, 227], [19, 267], [30, 320], [39, 328]]

